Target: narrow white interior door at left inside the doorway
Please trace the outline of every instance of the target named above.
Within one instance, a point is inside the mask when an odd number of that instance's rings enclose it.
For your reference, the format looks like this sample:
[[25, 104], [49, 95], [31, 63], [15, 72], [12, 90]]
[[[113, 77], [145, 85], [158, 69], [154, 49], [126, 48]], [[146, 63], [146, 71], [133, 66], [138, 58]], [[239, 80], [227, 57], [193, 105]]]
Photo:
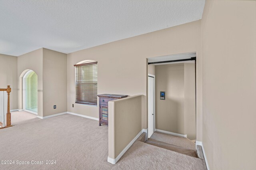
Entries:
[[154, 133], [154, 99], [155, 99], [155, 78], [148, 76], [148, 138]]

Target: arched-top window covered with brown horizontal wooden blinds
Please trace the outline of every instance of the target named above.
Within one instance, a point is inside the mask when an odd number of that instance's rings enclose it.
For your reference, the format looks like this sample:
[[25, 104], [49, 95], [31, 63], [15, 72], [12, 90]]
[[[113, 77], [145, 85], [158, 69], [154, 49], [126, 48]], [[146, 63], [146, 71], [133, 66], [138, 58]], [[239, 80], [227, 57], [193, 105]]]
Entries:
[[97, 106], [97, 62], [74, 66], [76, 68], [76, 103]]

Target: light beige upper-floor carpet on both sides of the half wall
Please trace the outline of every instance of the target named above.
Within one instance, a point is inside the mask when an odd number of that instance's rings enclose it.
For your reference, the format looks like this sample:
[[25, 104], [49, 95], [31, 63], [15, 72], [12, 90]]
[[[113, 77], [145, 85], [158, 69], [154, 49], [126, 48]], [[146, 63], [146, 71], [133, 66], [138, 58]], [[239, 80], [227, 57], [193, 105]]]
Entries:
[[[116, 165], [108, 163], [107, 157], [108, 127], [99, 127], [98, 121], [91, 119], [66, 114], [43, 120], [30, 119], [0, 129], [0, 160], [44, 162], [41, 165], [0, 164], [0, 169], [4, 170], [204, 170], [204, 161], [199, 158], [138, 140]], [[56, 160], [56, 164], [46, 165], [46, 160]]]

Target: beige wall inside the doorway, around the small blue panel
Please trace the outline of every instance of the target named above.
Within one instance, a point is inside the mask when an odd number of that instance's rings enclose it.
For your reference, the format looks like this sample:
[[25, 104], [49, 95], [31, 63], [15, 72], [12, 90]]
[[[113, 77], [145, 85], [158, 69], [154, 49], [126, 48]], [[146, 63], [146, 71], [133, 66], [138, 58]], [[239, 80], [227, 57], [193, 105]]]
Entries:
[[[194, 73], [190, 63], [156, 65], [156, 129], [196, 139]], [[165, 91], [165, 100], [160, 100], [160, 91]]]

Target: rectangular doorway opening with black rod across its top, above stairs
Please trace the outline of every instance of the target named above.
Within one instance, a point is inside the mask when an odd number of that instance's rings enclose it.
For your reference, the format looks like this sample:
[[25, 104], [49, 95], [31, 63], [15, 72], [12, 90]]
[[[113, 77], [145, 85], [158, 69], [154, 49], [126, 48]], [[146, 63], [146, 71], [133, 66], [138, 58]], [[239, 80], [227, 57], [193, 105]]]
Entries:
[[195, 156], [196, 52], [148, 58], [147, 116], [146, 143]]

